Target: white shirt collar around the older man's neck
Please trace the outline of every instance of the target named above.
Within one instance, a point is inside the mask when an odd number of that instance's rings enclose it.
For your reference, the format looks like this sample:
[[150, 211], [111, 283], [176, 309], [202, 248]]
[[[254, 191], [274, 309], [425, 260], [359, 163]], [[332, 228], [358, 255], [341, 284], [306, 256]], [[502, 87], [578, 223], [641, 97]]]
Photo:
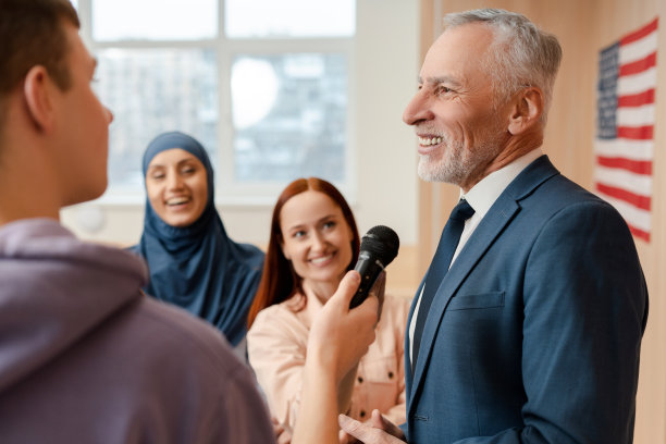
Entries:
[[508, 165], [483, 177], [467, 194], [462, 194], [460, 189], [460, 198], [465, 198], [474, 209], [474, 218], [482, 219], [514, 178], [541, 156], [543, 156], [541, 148], [534, 148]]

